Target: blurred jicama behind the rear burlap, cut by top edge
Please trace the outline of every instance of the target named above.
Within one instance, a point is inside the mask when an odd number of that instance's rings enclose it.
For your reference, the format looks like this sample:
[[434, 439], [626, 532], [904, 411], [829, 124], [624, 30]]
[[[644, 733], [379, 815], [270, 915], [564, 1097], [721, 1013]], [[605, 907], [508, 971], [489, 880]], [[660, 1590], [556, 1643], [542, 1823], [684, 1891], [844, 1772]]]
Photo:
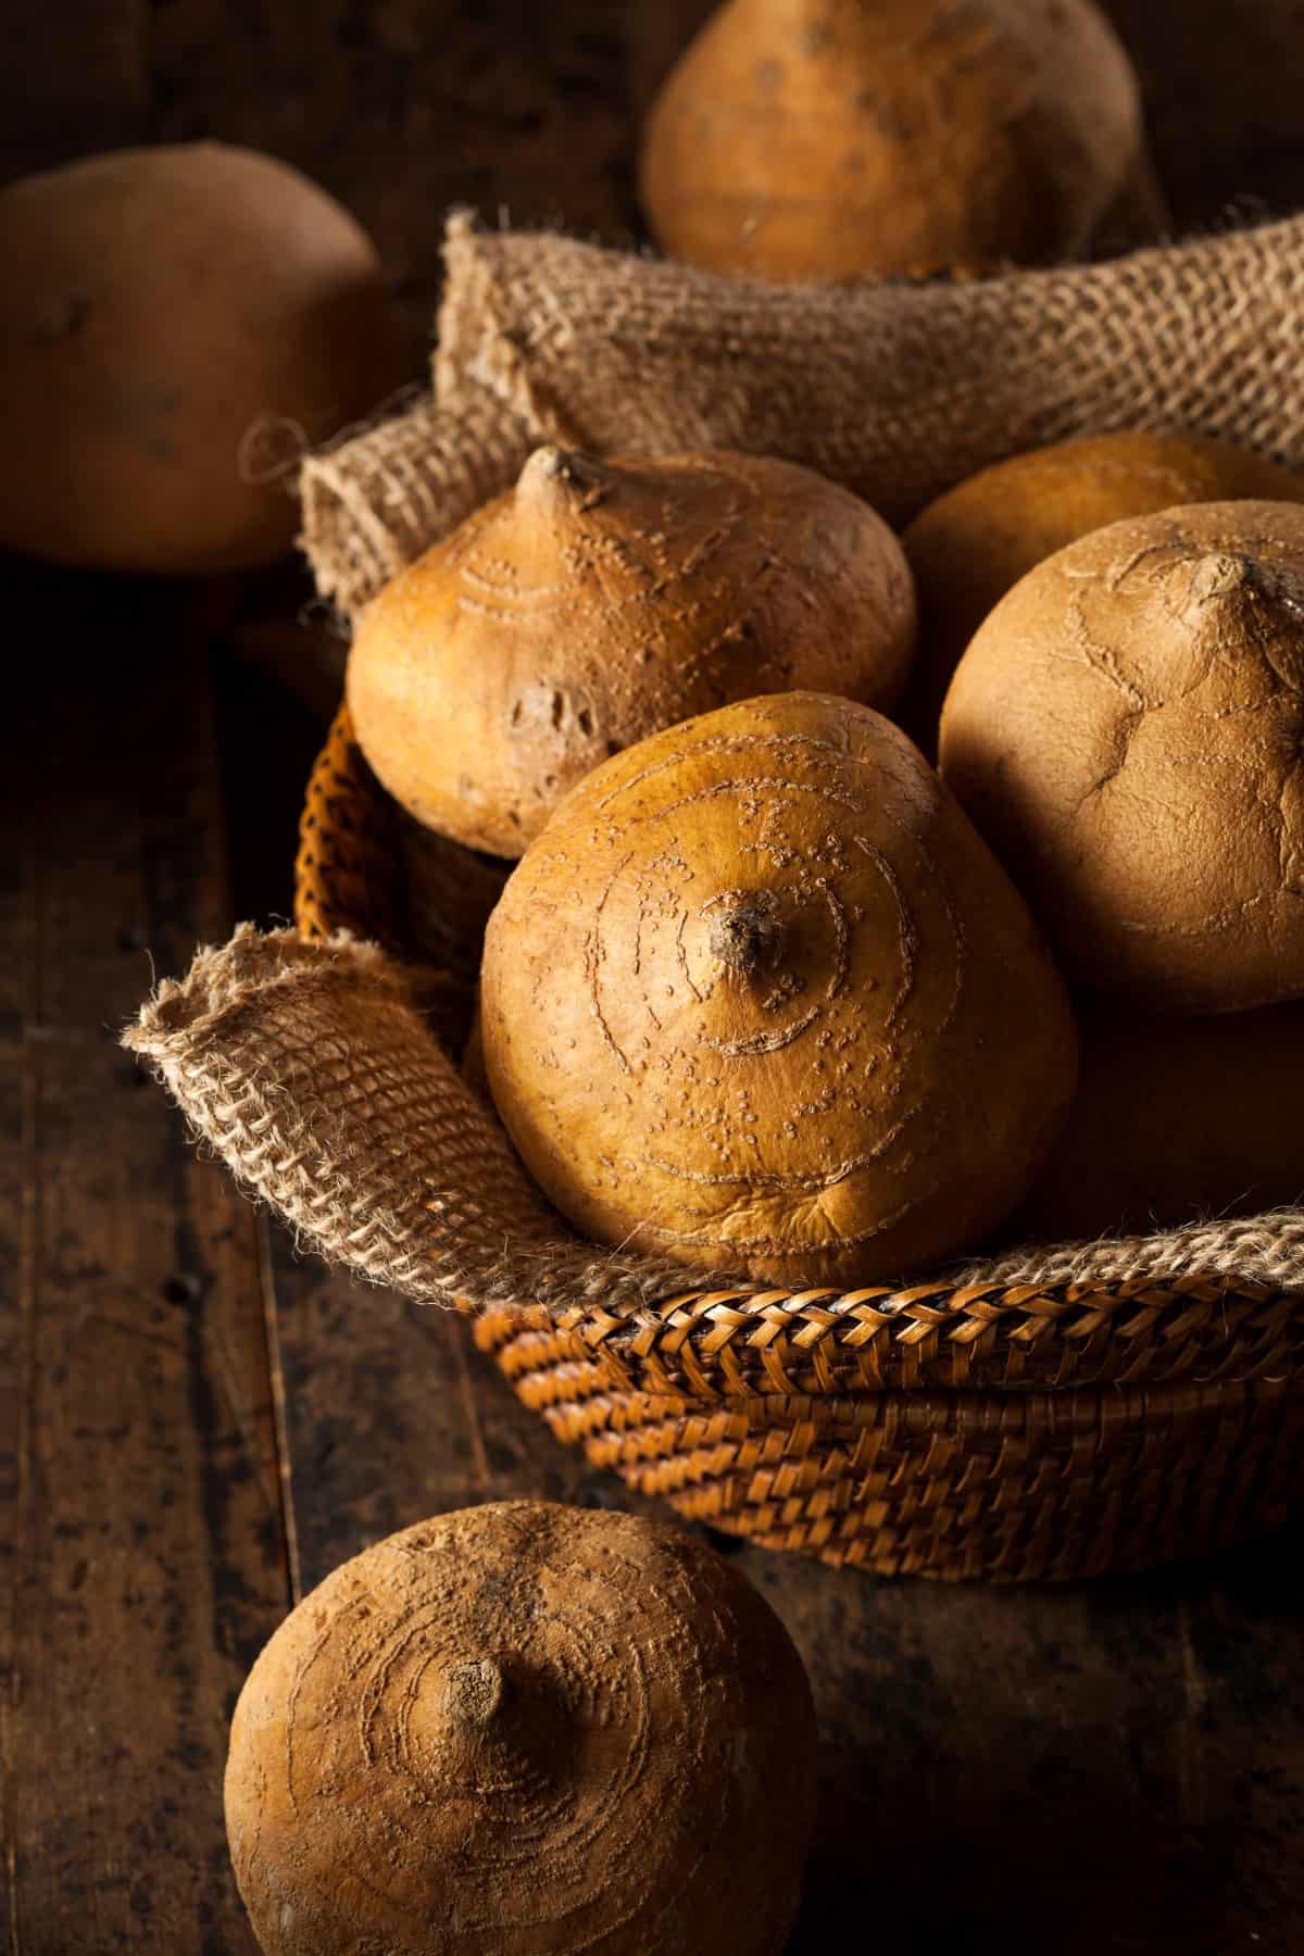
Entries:
[[653, 108], [641, 192], [690, 264], [850, 280], [1077, 256], [1140, 156], [1089, 0], [731, 0]]

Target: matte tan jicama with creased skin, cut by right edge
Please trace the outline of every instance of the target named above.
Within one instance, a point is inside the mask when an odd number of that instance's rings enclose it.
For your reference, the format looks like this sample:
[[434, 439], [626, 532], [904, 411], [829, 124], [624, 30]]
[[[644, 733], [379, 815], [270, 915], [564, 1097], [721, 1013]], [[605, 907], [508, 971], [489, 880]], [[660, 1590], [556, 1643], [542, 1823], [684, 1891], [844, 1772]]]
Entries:
[[1159, 1011], [1304, 994], [1304, 509], [1069, 544], [997, 604], [940, 765], [1065, 966]]

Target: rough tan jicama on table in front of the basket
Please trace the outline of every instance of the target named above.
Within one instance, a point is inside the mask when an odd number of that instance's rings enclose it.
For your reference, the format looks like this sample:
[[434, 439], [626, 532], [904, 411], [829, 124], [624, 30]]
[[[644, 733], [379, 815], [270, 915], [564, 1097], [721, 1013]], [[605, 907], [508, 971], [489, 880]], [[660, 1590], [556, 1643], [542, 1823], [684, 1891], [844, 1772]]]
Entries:
[[700, 1541], [493, 1502], [344, 1563], [231, 1727], [266, 1956], [778, 1956], [815, 1801], [782, 1623]]

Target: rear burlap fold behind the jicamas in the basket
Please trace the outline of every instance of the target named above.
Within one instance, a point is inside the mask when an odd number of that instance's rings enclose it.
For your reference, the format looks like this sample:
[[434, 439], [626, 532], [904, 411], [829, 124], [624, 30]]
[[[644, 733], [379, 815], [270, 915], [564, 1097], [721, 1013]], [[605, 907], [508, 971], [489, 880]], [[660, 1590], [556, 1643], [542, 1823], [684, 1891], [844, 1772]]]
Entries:
[[1110, 428], [1304, 464], [1304, 217], [1097, 266], [845, 288], [454, 217], [446, 268], [432, 397], [303, 466], [303, 544], [344, 612], [542, 440], [786, 456], [895, 522], [1001, 456]]

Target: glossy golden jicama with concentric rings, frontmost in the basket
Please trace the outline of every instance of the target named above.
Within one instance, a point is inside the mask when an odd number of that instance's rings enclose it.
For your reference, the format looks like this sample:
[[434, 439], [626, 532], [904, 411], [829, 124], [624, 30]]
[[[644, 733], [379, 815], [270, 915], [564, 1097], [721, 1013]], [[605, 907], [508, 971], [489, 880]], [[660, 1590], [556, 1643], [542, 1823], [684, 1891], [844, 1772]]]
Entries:
[[905, 735], [749, 700], [561, 804], [489, 921], [499, 1113], [588, 1238], [778, 1283], [997, 1222], [1073, 1089], [1060, 978]]

